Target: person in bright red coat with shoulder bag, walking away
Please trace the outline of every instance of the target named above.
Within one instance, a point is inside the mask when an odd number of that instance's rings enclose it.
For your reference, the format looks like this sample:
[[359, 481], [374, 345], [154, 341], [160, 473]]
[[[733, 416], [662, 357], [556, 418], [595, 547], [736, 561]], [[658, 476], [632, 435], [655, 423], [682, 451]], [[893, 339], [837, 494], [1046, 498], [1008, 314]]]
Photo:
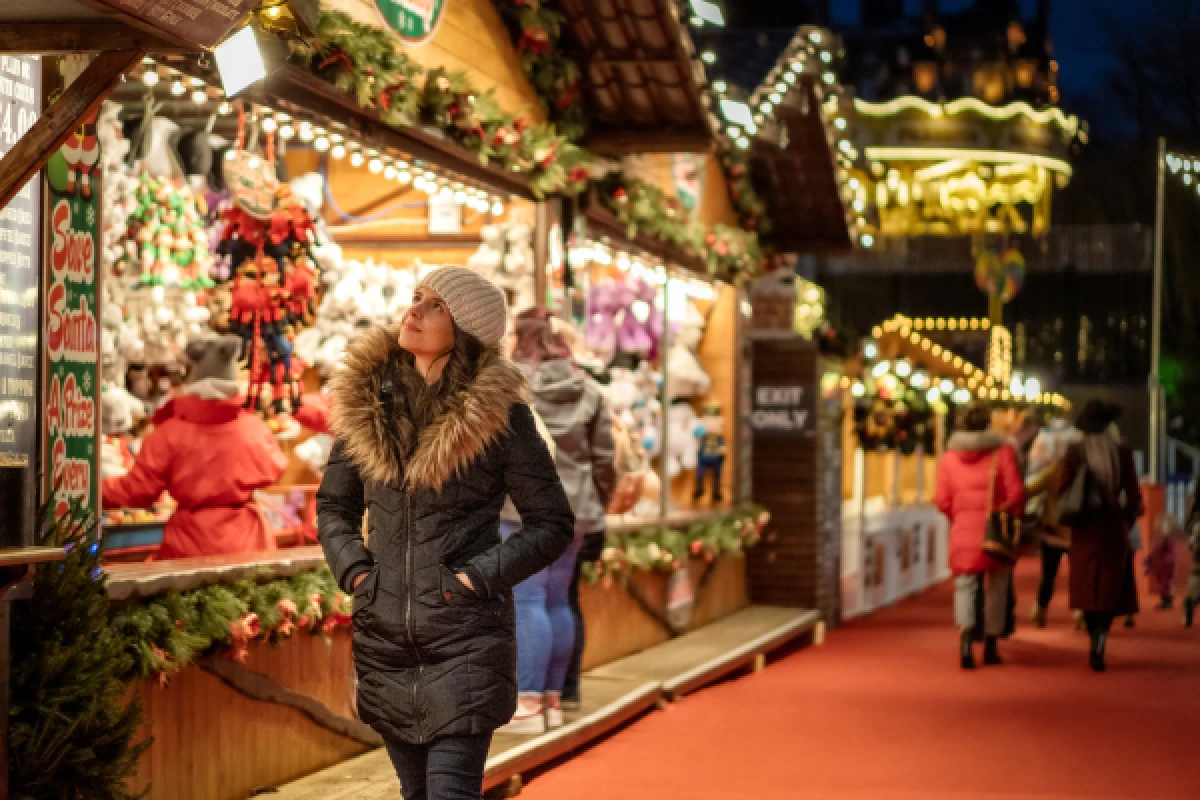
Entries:
[[[950, 519], [950, 570], [954, 572], [954, 620], [961, 631], [960, 660], [974, 668], [971, 643], [976, 625], [976, 593], [984, 583], [984, 663], [1001, 663], [997, 639], [1004, 632], [1013, 567], [983, 549], [989, 510], [1019, 512], [1025, 485], [1016, 453], [1003, 437], [988, 429], [991, 410], [973, 403], [962, 428], [950, 437], [937, 465], [938, 510]], [[990, 492], [990, 497], [989, 497]]]

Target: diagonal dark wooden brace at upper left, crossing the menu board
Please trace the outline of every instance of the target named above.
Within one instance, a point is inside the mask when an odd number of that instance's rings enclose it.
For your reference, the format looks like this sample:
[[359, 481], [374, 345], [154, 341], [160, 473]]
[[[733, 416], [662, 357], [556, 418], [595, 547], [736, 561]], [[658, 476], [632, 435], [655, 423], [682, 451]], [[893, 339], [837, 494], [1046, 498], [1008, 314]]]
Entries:
[[0, 209], [46, 166], [79, 120], [100, 108], [121, 79], [121, 73], [142, 60], [140, 50], [101, 53], [46, 109], [34, 126], [4, 158], [0, 158]]

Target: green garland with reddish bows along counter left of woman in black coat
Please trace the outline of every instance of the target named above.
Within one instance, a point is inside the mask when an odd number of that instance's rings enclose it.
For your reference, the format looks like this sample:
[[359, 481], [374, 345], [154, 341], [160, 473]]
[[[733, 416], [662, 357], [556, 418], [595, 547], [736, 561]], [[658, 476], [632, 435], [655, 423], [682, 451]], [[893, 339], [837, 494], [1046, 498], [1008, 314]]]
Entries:
[[242, 662], [256, 639], [277, 644], [298, 631], [329, 636], [350, 624], [349, 612], [350, 599], [323, 567], [138, 600], [115, 609], [113, 627], [130, 642], [134, 674], [166, 685], [209, 652], [224, 651]]

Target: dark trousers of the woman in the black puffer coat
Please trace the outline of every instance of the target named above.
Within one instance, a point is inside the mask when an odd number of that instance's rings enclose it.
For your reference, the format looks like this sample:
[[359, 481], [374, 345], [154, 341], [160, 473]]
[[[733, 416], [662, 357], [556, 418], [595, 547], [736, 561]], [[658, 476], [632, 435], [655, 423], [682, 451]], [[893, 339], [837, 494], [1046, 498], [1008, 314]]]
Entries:
[[404, 800], [480, 800], [492, 734], [439, 736], [424, 745], [385, 742]]

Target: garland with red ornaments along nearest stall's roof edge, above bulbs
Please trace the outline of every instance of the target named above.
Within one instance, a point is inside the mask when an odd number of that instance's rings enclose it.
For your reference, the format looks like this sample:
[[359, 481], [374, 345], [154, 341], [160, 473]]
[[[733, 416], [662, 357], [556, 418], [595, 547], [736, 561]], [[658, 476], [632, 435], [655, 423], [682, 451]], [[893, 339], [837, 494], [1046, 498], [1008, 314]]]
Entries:
[[493, 90], [480, 91], [467, 74], [443, 67], [425, 73], [385, 31], [340, 11], [322, 12], [319, 46], [292, 42], [293, 59], [377, 109], [395, 126], [416, 121], [442, 131], [479, 157], [529, 176], [536, 197], [576, 194], [588, 181], [588, 155], [553, 125], [503, 112]]

